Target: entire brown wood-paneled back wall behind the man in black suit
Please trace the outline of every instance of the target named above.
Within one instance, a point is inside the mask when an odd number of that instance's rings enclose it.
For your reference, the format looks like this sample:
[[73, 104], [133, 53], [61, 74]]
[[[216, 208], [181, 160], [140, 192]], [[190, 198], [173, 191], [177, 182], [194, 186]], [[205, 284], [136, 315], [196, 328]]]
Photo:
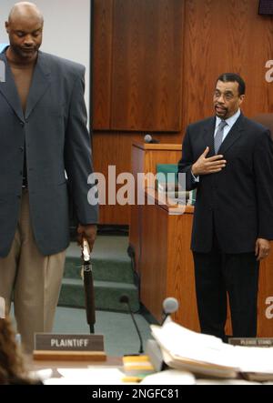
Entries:
[[[273, 112], [273, 83], [265, 79], [266, 62], [273, 59], [273, 18], [258, 15], [258, 0], [95, 0], [94, 41], [99, 172], [108, 164], [116, 165], [117, 174], [130, 171], [131, 144], [141, 141], [146, 129], [157, 131], [161, 142], [181, 143], [189, 123], [213, 114], [213, 87], [221, 73], [245, 78], [247, 116]], [[181, 56], [180, 85], [172, 69]], [[167, 89], [176, 86], [173, 103]], [[173, 125], [169, 130], [167, 122]], [[171, 133], [177, 125], [179, 131]], [[129, 207], [101, 207], [101, 222], [128, 224]]]

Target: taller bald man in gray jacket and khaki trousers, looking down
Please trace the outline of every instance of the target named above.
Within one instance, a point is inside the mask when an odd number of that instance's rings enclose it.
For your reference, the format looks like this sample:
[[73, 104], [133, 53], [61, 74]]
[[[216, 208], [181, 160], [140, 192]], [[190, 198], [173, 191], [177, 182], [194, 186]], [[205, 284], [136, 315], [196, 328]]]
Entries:
[[[97, 207], [86, 129], [85, 67], [39, 51], [44, 20], [35, 5], [16, 4], [0, 54], [0, 296], [28, 351], [34, 332], [50, 332], [69, 244], [71, 199], [79, 241], [92, 249]], [[68, 197], [69, 196], [69, 197]], [[7, 309], [8, 310], [8, 309]]]

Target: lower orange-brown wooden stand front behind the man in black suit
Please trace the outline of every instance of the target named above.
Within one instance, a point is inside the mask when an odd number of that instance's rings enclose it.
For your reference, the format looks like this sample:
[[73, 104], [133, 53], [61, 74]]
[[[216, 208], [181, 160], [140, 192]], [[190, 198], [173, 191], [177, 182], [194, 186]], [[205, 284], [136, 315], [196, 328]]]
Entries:
[[[194, 207], [170, 207], [158, 203], [158, 194], [147, 189], [150, 206], [142, 206], [140, 299], [150, 313], [162, 320], [162, 302], [176, 297], [179, 309], [173, 319], [199, 331], [193, 257], [190, 239]], [[272, 249], [272, 247], [271, 247]], [[273, 317], [266, 316], [268, 297], [273, 303], [273, 252], [262, 261], [258, 289], [258, 337], [273, 337]], [[273, 308], [271, 309], [273, 313]], [[231, 335], [230, 315], [227, 334]]]

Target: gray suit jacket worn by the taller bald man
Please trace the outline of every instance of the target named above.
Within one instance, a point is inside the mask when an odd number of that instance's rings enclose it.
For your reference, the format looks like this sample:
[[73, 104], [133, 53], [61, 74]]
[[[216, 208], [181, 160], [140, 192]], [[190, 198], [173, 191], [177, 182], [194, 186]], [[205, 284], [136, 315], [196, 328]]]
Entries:
[[[12, 245], [22, 194], [24, 151], [31, 223], [43, 255], [69, 244], [69, 196], [81, 224], [97, 223], [88, 204], [93, 172], [86, 129], [85, 67], [39, 52], [25, 116], [5, 53], [0, 83], [0, 257]], [[66, 180], [66, 174], [68, 180]]]

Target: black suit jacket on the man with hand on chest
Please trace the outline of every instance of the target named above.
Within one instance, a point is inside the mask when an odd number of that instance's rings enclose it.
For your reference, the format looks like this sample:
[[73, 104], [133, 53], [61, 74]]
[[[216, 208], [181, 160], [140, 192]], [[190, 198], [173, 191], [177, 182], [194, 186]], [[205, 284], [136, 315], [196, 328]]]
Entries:
[[227, 166], [217, 174], [199, 177], [195, 183], [191, 166], [206, 146], [214, 155], [216, 118], [187, 127], [178, 172], [186, 173], [187, 190], [197, 187], [191, 247], [208, 252], [213, 223], [225, 253], [255, 250], [258, 237], [273, 239], [273, 144], [268, 129], [240, 115], [218, 154]]

